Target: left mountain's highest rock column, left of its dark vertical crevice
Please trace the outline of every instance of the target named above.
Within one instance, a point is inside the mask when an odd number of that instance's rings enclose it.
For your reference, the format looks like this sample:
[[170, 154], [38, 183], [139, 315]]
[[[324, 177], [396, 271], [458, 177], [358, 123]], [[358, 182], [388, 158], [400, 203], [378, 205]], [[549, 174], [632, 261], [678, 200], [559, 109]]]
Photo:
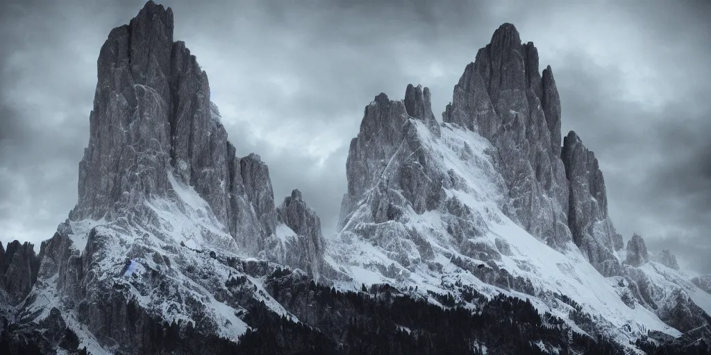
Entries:
[[152, 1], [114, 28], [97, 63], [89, 146], [79, 165], [73, 219], [114, 218], [119, 209], [166, 195], [171, 151], [173, 12]]

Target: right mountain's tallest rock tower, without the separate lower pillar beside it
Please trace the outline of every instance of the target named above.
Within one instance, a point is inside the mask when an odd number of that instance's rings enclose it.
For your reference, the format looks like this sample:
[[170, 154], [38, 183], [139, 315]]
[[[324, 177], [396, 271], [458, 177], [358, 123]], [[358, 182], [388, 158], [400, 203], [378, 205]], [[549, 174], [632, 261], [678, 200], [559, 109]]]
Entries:
[[538, 50], [510, 23], [499, 27], [454, 87], [444, 122], [498, 149], [512, 219], [547, 244], [570, 241], [568, 188], [560, 160], [560, 98], [552, 70], [538, 72]]

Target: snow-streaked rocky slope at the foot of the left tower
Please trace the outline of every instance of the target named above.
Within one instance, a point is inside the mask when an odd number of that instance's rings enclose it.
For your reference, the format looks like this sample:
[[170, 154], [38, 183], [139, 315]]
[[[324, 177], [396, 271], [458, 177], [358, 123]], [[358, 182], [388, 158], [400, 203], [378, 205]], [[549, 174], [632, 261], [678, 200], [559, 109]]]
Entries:
[[[134, 299], [165, 322], [201, 322], [234, 340], [249, 328], [240, 319], [247, 299], [264, 301], [277, 314], [297, 321], [261, 286], [276, 265], [246, 258], [208, 204], [168, 173], [175, 192], [170, 198], [146, 199], [143, 209], [112, 223], [82, 220], [60, 226], [65, 235], [50, 240], [48, 254], [81, 255], [87, 275], [75, 283], [75, 271], [56, 268], [53, 258], [44, 258], [23, 314], [40, 322], [58, 308], [71, 320], [82, 346], [95, 354], [102, 351], [92, 332], [101, 322], [77, 305], [106, 309], [107, 302]], [[60, 250], [54, 241], [70, 243]], [[228, 285], [230, 280], [242, 281]]]

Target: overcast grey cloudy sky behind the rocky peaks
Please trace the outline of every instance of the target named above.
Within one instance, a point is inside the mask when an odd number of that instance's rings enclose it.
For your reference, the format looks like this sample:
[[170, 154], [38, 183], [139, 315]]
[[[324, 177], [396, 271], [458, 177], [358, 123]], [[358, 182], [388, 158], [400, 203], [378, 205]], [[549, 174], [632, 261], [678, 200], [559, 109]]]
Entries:
[[[39, 244], [77, 201], [96, 63], [144, 1], [0, 5], [0, 241]], [[325, 234], [348, 143], [380, 92], [432, 91], [441, 113], [501, 23], [551, 65], [570, 130], [594, 151], [625, 241], [711, 273], [711, 1], [159, 1], [208, 73], [238, 155], [299, 188]], [[299, 6], [296, 6], [299, 4]]]

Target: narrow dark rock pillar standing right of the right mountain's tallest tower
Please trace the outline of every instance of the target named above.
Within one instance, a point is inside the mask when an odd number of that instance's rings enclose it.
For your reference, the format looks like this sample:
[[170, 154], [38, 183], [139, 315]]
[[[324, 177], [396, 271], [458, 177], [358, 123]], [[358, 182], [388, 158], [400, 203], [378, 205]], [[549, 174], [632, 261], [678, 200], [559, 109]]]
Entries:
[[605, 181], [597, 158], [573, 131], [563, 140], [561, 158], [570, 182], [568, 225], [573, 241], [603, 275], [617, 275], [620, 265], [612, 252], [622, 249], [622, 236], [607, 214]]

